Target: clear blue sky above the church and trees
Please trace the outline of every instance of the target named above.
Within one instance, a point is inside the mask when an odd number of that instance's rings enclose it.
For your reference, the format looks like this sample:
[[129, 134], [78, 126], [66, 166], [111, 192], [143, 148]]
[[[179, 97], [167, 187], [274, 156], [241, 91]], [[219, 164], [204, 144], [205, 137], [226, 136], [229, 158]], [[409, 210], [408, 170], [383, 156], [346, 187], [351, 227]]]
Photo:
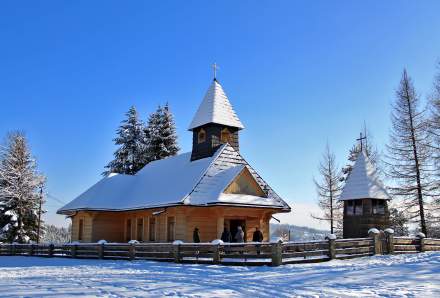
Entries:
[[[217, 62], [246, 126], [242, 154], [292, 203], [290, 222], [314, 225], [326, 141], [342, 165], [365, 120], [383, 149], [404, 67], [430, 91], [439, 12], [439, 1], [1, 1], [0, 136], [24, 130], [48, 192], [67, 202], [101, 178], [131, 105], [146, 118], [168, 101], [189, 151]], [[58, 207], [49, 198], [50, 222]]]

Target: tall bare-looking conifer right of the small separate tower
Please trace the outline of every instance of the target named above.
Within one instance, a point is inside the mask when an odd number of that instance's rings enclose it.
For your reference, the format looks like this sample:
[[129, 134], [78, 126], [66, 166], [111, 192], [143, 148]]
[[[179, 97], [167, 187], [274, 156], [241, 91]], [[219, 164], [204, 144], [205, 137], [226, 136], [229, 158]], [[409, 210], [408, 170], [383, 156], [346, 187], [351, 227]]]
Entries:
[[432, 195], [427, 121], [420, 99], [406, 70], [403, 71], [391, 115], [392, 131], [388, 147], [388, 175], [396, 185], [391, 192], [400, 198], [409, 219], [427, 233], [425, 205]]

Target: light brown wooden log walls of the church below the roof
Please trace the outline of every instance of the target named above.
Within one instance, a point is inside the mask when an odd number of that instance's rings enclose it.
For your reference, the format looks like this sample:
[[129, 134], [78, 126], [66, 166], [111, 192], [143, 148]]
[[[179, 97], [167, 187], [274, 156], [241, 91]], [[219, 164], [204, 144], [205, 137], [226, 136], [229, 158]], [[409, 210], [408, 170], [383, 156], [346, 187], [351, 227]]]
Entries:
[[[79, 220], [83, 219], [83, 240], [81, 242], [127, 242], [127, 239], [136, 239], [149, 242], [150, 220], [156, 221], [155, 242], [168, 242], [168, 221], [174, 217], [174, 240], [184, 242], [193, 241], [194, 228], [199, 228], [202, 242], [219, 239], [224, 224], [231, 219], [244, 220], [246, 225], [246, 239], [252, 240], [255, 227], [259, 227], [268, 241], [270, 236], [269, 221], [277, 210], [266, 208], [243, 207], [192, 207], [178, 206], [158, 208], [153, 210], [129, 212], [78, 212], [72, 218], [72, 241], [80, 241]], [[159, 213], [159, 214], [158, 214]], [[127, 235], [127, 220], [131, 219], [130, 235]], [[143, 222], [141, 239], [137, 239], [137, 220]]]

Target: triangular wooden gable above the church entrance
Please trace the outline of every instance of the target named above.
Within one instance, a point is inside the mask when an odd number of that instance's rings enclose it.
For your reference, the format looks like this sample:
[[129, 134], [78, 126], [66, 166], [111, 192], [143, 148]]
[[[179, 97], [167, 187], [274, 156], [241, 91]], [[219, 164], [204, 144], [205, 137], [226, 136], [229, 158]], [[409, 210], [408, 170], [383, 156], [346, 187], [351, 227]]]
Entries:
[[226, 187], [225, 194], [244, 194], [257, 197], [267, 197], [252, 174], [245, 167], [240, 174]]

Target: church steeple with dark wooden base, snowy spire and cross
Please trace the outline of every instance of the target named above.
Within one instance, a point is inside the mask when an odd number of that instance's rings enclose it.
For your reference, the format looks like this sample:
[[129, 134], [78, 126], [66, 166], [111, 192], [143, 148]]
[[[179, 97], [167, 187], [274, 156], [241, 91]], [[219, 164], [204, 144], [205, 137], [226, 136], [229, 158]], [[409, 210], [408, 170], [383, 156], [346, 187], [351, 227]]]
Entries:
[[[215, 73], [216, 65], [214, 66]], [[243, 128], [222, 86], [214, 76], [189, 126], [193, 133], [191, 161], [212, 156], [224, 143], [229, 143], [239, 151], [239, 131]]]

